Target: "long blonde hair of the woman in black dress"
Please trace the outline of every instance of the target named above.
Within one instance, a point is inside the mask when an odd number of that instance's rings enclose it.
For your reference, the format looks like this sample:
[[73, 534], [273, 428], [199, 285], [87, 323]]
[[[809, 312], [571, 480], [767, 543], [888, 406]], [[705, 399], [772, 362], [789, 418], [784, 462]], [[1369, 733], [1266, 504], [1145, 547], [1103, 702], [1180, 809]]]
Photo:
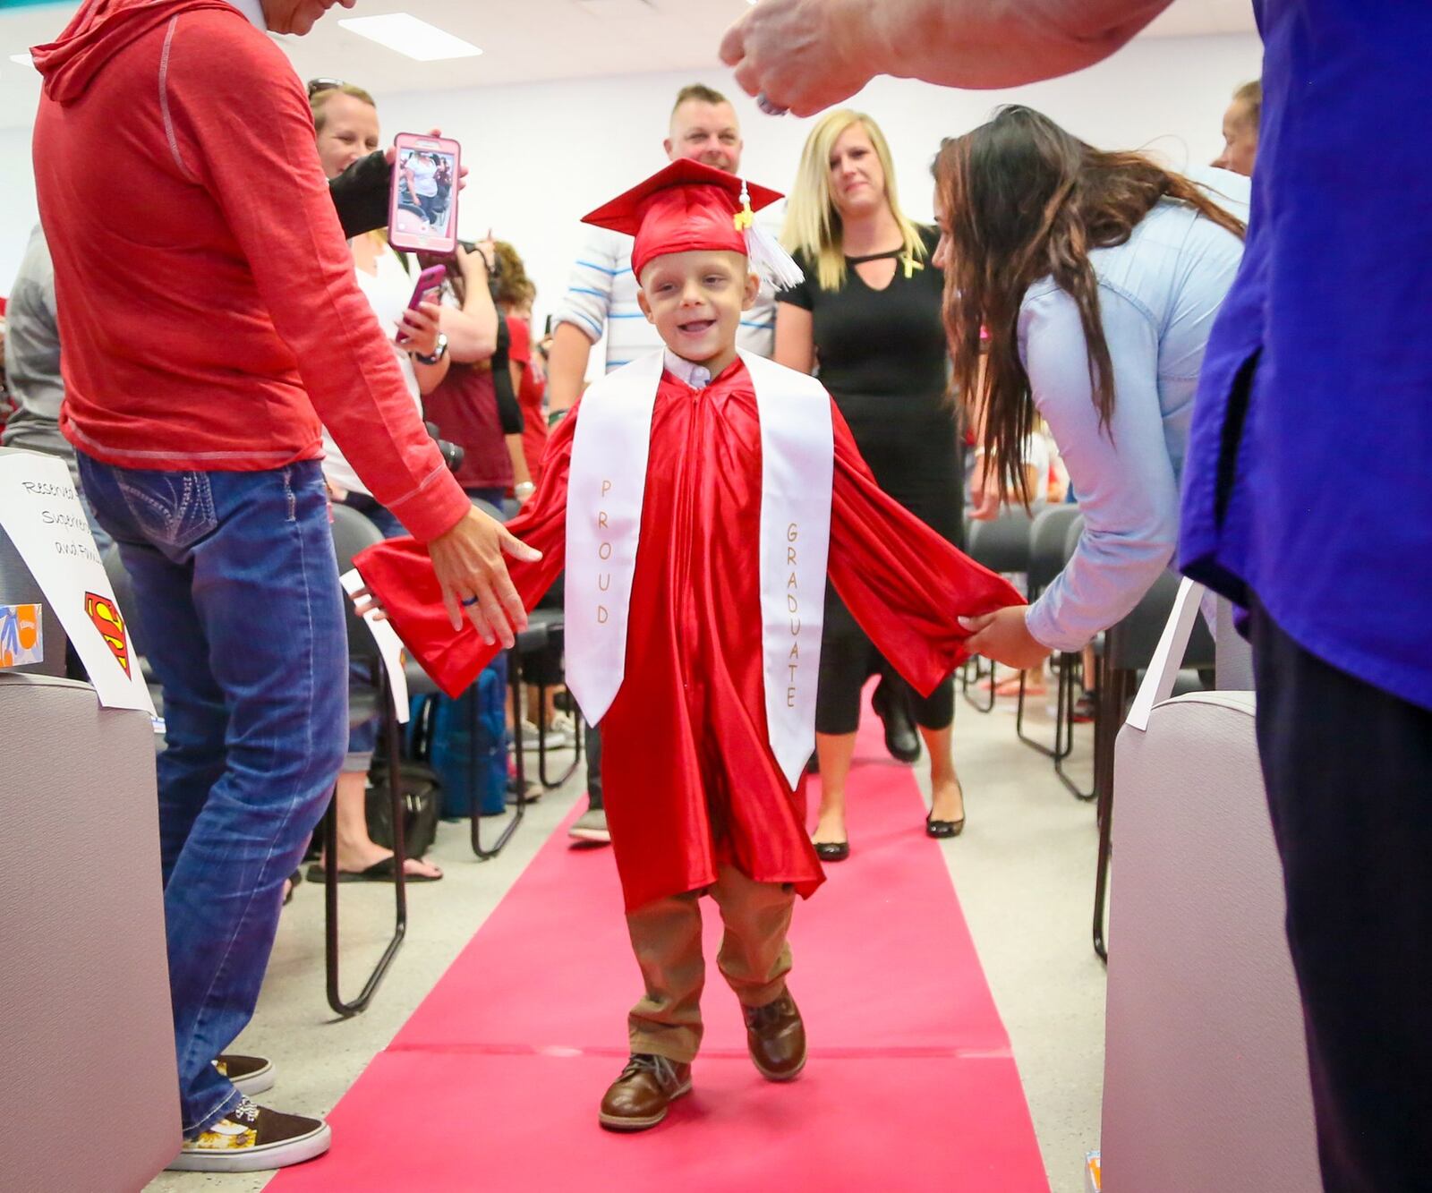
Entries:
[[806, 261], [813, 261], [816, 281], [821, 289], [839, 289], [845, 284], [845, 248], [841, 231], [841, 213], [831, 198], [831, 150], [846, 129], [859, 125], [875, 146], [881, 169], [885, 172], [885, 202], [899, 225], [905, 239], [905, 252], [914, 258], [925, 256], [925, 242], [919, 228], [899, 208], [895, 190], [895, 163], [885, 135], [863, 112], [845, 107], [826, 115], [806, 137], [800, 150], [800, 169], [786, 203], [786, 226], [780, 243], [788, 252], [802, 252]]

